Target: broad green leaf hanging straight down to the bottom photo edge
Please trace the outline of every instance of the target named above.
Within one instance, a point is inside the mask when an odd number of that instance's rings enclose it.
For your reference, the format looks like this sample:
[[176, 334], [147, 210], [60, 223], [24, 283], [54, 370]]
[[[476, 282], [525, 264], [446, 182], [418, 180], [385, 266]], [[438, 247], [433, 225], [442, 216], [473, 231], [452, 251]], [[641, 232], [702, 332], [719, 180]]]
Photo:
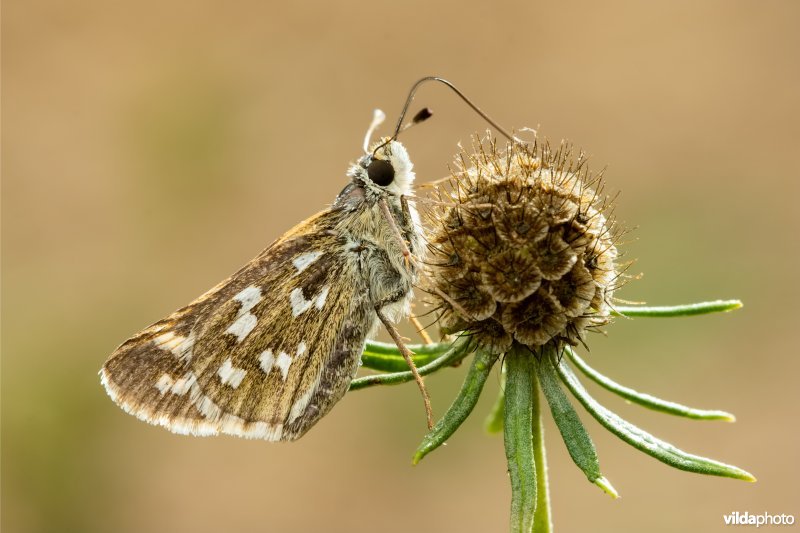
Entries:
[[506, 356], [505, 440], [511, 478], [511, 531], [533, 529], [537, 478], [533, 449], [535, 370], [533, 356], [514, 346]]

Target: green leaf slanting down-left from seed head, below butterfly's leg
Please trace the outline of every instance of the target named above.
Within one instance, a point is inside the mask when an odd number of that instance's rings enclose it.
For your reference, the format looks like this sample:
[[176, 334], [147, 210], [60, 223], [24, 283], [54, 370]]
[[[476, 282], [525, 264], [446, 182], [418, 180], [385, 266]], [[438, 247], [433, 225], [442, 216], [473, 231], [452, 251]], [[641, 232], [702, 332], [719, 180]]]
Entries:
[[492, 371], [497, 355], [478, 350], [472, 360], [461, 390], [444, 416], [433, 426], [414, 454], [417, 464], [427, 454], [441, 446], [461, 426], [478, 403], [486, 378]]

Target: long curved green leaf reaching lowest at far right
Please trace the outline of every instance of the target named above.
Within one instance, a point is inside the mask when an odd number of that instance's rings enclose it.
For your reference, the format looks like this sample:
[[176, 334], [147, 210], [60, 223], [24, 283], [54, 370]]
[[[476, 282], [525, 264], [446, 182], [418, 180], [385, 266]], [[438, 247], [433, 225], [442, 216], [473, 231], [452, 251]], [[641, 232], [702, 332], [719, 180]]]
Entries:
[[741, 468], [686, 453], [672, 444], [657, 439], [643, 429], [623, 420], [615, 413], [597, 403], [597, 401], [586, 392], [586, 389], [583, 388], [578, 378], [567, 366], [566, 361], [562, 359], [560, 363], [554, 364], [558, 370], [561, 381], [569, 388], [575, 398], [583, 404], [595, 420], [600, 422], [600, 424], [611, 433], [639, 451], [680, 470], [711, 476], [742, 479], [745, 481], [755, 481], [752, 474]]

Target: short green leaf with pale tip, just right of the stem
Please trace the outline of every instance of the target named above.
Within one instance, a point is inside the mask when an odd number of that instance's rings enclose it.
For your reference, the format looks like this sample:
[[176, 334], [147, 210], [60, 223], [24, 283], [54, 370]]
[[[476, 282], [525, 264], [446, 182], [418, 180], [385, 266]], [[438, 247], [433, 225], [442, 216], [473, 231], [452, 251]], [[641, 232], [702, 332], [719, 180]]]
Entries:
[[[578, 413], [567, 399], [567, 395], [561, 390], [558, 376], [553, 368], [553, 362], [557, 356], [552, 349], [546, 349], [541, 360], [536, 361], [536, 371], [539, 375], [539, 383], [542, 385], [542, 392], [550, 405], [550, 412], [556, 422], [561, 438], [567, 446], [570, 457], [580, 468], [591, 483], [603, 478], [600, 472], [600, 460], [597, 458], [597, 450], [594, 447], [592, 438], [586, 432]], [[616, 495], [616, 491], [608, 482], [603, 481], [603, 485], [608, 494]], [[609, 490], [610, 489], [610, 490]]]

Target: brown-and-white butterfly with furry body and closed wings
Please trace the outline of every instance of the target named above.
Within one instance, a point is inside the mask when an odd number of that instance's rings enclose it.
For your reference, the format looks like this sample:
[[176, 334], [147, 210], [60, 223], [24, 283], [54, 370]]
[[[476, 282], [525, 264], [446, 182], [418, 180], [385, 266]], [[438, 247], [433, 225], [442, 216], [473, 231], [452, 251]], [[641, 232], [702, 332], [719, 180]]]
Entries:
[[176, 433], [273, 441], [325, 415], [378, 312], [408, 315], [417, 272], [404, 251], [423, 252], [405, 148], [380, 145], [348, 176], [329, 209], [117, 348], [100, 372], [114, 401]]

